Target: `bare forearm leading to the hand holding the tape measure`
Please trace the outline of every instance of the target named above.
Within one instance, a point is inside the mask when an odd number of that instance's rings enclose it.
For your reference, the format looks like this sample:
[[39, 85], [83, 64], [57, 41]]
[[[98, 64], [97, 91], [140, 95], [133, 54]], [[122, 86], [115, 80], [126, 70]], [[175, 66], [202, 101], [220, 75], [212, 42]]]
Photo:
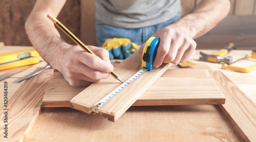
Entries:
[[214, 28], [229, 13], [229, 0], [202, 0], [193, 11], [173, 24], [184, 27], [188, 34], [197, 38]]

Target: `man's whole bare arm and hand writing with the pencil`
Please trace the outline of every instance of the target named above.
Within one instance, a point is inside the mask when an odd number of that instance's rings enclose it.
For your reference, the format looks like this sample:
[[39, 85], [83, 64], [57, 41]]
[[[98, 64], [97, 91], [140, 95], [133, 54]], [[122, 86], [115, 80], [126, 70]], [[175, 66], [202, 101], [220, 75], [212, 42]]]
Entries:
[[[46, 16], [48, 13], [58, 17], [66, 0], [37, 0], [27, 18], [25, 29], [39, 55], [52, 68], [60, 71], [71, 86], [88, 86], [100, 79], [108, 78], [113, 71], [106, 49], [88, 46], [94, 54], [81, 47], [63, 42], [54, 23]], [[38, 20], [40, 19], [40, 20]]]

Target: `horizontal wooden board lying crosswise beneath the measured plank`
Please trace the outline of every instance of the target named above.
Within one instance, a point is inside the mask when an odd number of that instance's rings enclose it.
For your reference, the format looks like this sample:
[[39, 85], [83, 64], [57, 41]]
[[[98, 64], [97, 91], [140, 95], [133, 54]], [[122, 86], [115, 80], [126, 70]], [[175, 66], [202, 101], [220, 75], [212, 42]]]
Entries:
[[[199, 67], [194, 66], [193, 68]], [[193, 68], [168, 69], [132, 106], [224, 104], [225, 97], [216, 88], [210, 88], [205, 92], [196, 91], [196, 87], [200, 88], [201, 85], [205, 85], [204, 82], [209, 82], [212, 86], [216, 84], [209, 77], [207, 70]], [[179, 75], [180, 72], [183, 74]], [[193, 81], [198, 82], [195, 84]], [[179, 86], [180, 84], [182, 86]], [[194, 84], [195, 87], [187, 89], [188, 84]], [[70, 107], [69, 101], [85, 88], [70, 86], [61, 73], [55, 70], [42, 99], [42, 106]]]

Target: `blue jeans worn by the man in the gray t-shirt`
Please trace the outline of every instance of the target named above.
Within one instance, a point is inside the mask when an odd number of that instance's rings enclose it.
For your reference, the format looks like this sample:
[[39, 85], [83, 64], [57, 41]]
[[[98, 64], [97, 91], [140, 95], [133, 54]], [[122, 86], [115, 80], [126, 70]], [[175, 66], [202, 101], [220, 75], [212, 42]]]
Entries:
[[128, 38], [131, 42], [136, 43], [137, 45], [142, 45], [144, 42], [148, 40], [154, 33], [159, 31], [161, 28], [171, 24], [173, 21], [179, 19], [181, 17], [181, 12], [179, 12], [175, 17], [172, 19], [165, 21], [163, 23], [142, 27], [137, 29], [125, 29], [122, 28], [122, 24], [118, 27], [114, 27], [111, 25], [104, 24], [100, 20], [96, 19], [96, 39], [97, 39], [97, 46], [102, 46], [108, 38]]

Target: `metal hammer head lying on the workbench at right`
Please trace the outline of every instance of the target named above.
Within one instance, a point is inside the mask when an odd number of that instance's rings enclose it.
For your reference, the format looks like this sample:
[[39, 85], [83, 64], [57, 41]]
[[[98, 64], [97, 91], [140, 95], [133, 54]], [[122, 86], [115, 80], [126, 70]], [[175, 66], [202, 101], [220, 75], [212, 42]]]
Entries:
[[230, 56], [221, 57], [221, 56], [217, 56], [217, 55], [207, 55], [202, 52], [200, 52], [200, 55], [201, 55], [200, 60], [204, 60], [206, 62], [212, 62], [212, 63], [224, 62], [226, 64], [231, 64], [231, 61], [232, 61], [232, 57], [230, 57]]

